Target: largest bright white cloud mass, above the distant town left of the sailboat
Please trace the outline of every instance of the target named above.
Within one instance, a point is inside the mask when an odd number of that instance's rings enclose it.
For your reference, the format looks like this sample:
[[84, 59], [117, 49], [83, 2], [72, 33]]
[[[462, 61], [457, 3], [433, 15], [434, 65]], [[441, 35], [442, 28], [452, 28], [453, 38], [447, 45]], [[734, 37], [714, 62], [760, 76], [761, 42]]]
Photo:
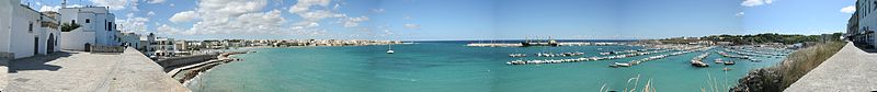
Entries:
[[[339, 13], [343, 4], [330, 7], [332, 0], [301, 0], [289, 9], [262, 11], [266, 0], [200, 0], [192, 11], [178, 12], [170, 20], [173, 23], [193, 22], [192, 27], [181, 28], [174, 25], [156, 24], [156, 30], [169, 35], [326, 35], [328, 30], [319, 28], [321, 22], [332, 22], [345, 27], [360, 25], [368, 21], [368, 16], [351, 18]], [[287, 22], [285, 12], [301, 18], [300, 21]], [[337, 20], [337, 22], [334, 21]]]

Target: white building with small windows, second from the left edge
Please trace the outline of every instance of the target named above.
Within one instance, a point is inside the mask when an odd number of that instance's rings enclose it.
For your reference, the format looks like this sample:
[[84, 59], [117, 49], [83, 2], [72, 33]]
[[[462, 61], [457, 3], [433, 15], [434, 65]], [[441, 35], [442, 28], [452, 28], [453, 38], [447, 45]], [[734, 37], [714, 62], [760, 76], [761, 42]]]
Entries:
[[121, 46], [121, 32], [116, 30], [115, 15], [106, 7], [61, 8], [62, 24], [80, 27], [62, 32], [61, 49], [87, 50], [87, 46]]

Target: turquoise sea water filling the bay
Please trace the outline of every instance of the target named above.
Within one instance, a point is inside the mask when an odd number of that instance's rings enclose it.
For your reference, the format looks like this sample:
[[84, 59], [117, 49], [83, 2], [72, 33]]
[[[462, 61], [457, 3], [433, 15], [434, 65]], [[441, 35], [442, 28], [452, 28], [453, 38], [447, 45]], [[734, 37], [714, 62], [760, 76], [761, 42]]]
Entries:
[[[221, 65], [202, 74], [189, 88], [195, 92], [594, 92], [641, 89], [648, 80], [657, 91], [699, 92], [716, 88], [727, 91], [749, 70], [773, 66], [782, 58], [742, 59], [725, 66], [711, 53], [709, 68], [695, 68], [690, 60], [702, 53], [671, 56], [629, 68], [610, 68], [649, 56], [584, 62], [517, 65], [516, 59], [544, 59], [540, 51], [583, 51], [584, 57], [601, 51], [640, 49], [636, 46], [567, 47], [465, 47], [466, 42], [424, 42], [387, 46], [255, 48], [258, 53], [236, 55], [242, 61]], [[714, 48], [711, 50], [719, 50]], [[531, 54], [511, 58], [513, 53]], [[554, 57], [557, 59], [565, 57]], [[566, 57], [570, 58], [570, 57]], [[578, 57], [577, 57], [578, 58]], [[547, 59], [547, 58], [546, 58]], [[722, 68], [732, 68], [724, 71]], [[639, 81], [636, 79], [639, 76]], [[604, 87], [605, 85], [605, 87]]]

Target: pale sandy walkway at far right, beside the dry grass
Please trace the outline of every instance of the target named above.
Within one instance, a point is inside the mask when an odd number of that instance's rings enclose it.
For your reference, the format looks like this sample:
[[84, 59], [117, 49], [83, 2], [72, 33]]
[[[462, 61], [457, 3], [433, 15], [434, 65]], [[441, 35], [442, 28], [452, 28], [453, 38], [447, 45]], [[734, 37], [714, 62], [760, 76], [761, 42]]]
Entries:
[[877, 54], [847, 43], [838, 54], [811, 70], [785, 92], [877, 91]]

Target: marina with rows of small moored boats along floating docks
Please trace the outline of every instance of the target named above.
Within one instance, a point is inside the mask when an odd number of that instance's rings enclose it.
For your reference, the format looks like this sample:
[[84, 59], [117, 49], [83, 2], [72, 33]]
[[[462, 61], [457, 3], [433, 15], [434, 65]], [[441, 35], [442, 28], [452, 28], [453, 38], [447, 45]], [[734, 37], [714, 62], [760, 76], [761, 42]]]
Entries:
[[[634, 46], [634, 45], [630, 45]], [[667, 57], [679, 56], [690, 53], [698, 53], [697, 56], [693, 57], [690, 61], [691, 66], [693, 67], [709, 67], [709, 64], [706, 62], [707, 57], [711, 54], [718, 54], [720, 57], [726, 58], [715, 58], [715, 62], [717, 65], [736, 65], [731, 59], [742, 59], [749, 60], [753, 62], [763, 61], [756, 57], [762, 58], [782, 58], [787, 56], [788, 53], [784, 49], [777, 48], [759, 48], [759, 47], [743, 47], [743, 46], [734, 46], [734, 47], [726, 47], [726, 46], [702, 46], [702, 45], [639, 45], [645, 48], [640, 49], [627, 49], [627, 50], [610, 50], [610, 51], [597, 51], [597, 53], [581, 53], [581, 54], [597, 54], [590, 57], [571, 57], [571, 58], [549, 58], [549, 59], [536, 59], [536, 58], [528, 58], [528, 59], [520, 59], [522, 57], [526, 57], [525, 54], [510, 54], [511, 58], [519, 58], [511, 61], [506, 61], [506, 65], [542, 65], [542, 64], [565, 64], [565, 62], [583, 62], [583, 61], [610, 61], [611, 68], [619, 68], [619, 67], [633, 67], [640, 65], [642, 62], [663, 59]], [[602, 49], [602, 48], [599, 48]], [[753, 49], [763, 49], [765, 51], [754, 51]], [[545, 54], [545, 53], [537, 53], [535, 54], [538, 57], [570, 57], [571, 55], [566, 55], [571, 53], [562, 53], [562, 54]], [[657, 55], [654, 55], [657, 54]], [[618, 59], [627, 59], [637, 56], [648, 56], [640, 59], [633, 59], [629, 61], [617, 61]], [[730, 69], [725, 69], [730, 70]]]

